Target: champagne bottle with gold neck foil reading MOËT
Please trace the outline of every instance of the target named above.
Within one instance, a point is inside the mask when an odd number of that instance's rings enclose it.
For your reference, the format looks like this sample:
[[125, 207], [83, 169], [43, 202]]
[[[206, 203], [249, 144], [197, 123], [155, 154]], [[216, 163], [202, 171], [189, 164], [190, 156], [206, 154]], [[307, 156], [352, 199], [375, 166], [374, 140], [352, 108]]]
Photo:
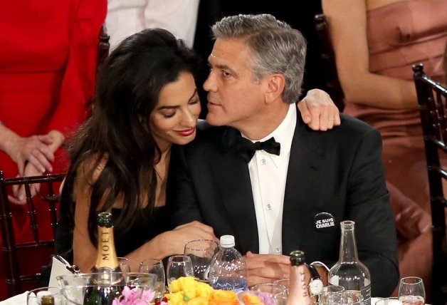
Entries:
[[98, 214], [98, 256], [90, 286], [85, 291], [84, 305], [111, 305], [120, 296], [124, 278], [115, 251], [112, 214]]

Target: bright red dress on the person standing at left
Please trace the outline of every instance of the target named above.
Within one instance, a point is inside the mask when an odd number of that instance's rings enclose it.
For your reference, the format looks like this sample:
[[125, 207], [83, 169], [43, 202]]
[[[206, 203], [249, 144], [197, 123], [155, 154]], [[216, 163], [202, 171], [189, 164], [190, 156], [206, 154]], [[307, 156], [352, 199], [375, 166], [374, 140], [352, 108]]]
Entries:
[[[67, 138], [85, 120], [106, 11], [106, 0], [2, 1], [0, 121], [6, 127], [22, 137], [58, 130]], [[53, 172], [65, 172], [67, 165], [59, 149]], [[18, 173], [16, 163], [3, 151], [0, 170], [5, 177]], [[14, 215], [19, 213], [14, 216], [16, 236], [21, 241], [31, 238], [21, 232], [28, 221], [26, 206], [12, 208]], [[39, 229], [42, 237], [51, 232], [43, 224]], [[2, 265], [0, 300], [5, 296]]]

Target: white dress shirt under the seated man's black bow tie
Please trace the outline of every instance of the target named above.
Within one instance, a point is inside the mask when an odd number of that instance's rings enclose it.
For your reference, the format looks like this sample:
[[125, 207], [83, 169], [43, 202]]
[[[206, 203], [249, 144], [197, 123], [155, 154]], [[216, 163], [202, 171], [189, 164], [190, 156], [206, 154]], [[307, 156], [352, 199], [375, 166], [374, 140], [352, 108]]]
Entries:
[[[260, 141], [275, 138], [281, 145], [280, 155], [256, 150], [248, 162], [251, 190], [258, 224], [259, 253], [282, 254], [283, 202], [290, 147], [297, 120], [296, 105], [290, 105], [283, 122]], [[244, 136], [244, 135], [243, 135]], [[244, 137], [246, 138], [246, 137]], [[253, 143], [257, 141], [252, 141]]]

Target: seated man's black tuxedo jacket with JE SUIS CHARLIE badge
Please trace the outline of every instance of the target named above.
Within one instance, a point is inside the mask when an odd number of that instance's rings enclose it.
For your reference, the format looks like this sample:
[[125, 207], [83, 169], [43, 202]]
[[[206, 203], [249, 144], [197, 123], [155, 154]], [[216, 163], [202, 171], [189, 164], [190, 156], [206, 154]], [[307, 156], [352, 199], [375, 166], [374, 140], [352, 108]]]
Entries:
[[[339, 257], [340, 222], [353, 220], [359, 259], [372, 274], [372, 295], [388, 296], [399, 269], [380, 134], [346, 115], [327, 132], [310, 130], [300, 117], [285, 185], [283, 254], [301, 249], [307, 262], [331, 267]], [[234, 235], [243, 254], [258, 253], [248, 165], [232, 146], [237, 133], [201, 123], [196, 140], [173, 153], [167, 202], [174, 226], [199, 220], [217, 237]]]

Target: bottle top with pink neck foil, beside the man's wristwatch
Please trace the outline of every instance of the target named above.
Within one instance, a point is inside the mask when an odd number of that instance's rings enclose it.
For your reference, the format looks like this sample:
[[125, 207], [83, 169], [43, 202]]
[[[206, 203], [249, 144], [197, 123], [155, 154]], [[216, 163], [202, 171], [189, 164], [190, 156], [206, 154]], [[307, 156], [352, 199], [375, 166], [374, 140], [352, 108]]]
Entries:
[[303, 251], [290, 252], [290, 284], [286, 305], [310, 305], [309, 291], [305, 282], [305, 254]]

